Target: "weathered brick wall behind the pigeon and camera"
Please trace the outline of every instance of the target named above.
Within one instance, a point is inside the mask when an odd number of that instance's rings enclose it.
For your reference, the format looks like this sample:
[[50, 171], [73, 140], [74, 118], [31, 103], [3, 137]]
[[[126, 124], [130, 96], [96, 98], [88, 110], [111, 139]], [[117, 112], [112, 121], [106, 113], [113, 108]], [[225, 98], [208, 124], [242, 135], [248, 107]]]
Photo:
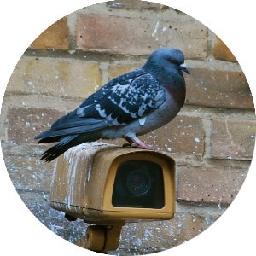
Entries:
[[156, 3], [122, 0], [80, 9], [50, 26], [22, 55], [3, 98], [0, 130], [15, 189], [41, 222], [68, 241], [87, 225], [69, 223], [49, 207], [54, 163], [39, 160], [49, 146], [33, 138], [160, 46], [182, 49], [191, 71], [177, 118], [143, 136], [177, 162], [177, 212], [170, 221], [126, 224], [119, 252], [152, 253], [188, 241], [241, 188], [253, 155], [253, 98], [225, 44], [197, 20]]

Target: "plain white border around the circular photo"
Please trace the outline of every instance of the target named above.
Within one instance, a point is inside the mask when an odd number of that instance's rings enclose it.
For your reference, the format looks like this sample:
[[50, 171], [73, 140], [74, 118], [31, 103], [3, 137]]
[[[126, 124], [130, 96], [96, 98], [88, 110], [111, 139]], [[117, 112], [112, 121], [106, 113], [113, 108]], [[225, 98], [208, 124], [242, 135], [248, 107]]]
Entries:
[[[103, 1], [9, 0], [0, 3], [0, 100], [9, 77], [27, 46], [64, 15]], [[254, 1], [160, 1], [180, 9], [208, 26], [223, 39], [245, 73], [255, 102], [255, 3]], [[17, 195], [0, 156], [1, 255], [95, 254], [56, 236], [32, 215]], [[241, 191], [224, 215], [200, 236], [161, 255], [255, 255], [256, 230], [255, 152]], [[252, 235], [253, 234], [253, 235]]]

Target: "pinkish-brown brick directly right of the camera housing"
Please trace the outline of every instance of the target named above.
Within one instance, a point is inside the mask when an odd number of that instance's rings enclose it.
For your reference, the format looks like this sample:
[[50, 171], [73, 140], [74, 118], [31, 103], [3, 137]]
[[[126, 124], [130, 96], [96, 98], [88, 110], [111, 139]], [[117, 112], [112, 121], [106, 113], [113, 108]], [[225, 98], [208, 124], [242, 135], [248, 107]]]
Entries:
[[178, 166], [177, 200], [228, 205], [236, 197], [247, 172], [234, 168]]

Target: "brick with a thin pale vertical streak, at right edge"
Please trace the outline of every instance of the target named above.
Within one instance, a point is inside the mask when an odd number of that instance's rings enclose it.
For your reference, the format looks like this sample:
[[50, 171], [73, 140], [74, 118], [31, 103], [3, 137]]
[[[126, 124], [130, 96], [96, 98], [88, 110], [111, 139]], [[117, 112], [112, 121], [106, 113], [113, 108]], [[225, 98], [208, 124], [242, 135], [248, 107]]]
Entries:
[[256, 121], [213, 119], [211, 157], [250, 160], [255, 143]]

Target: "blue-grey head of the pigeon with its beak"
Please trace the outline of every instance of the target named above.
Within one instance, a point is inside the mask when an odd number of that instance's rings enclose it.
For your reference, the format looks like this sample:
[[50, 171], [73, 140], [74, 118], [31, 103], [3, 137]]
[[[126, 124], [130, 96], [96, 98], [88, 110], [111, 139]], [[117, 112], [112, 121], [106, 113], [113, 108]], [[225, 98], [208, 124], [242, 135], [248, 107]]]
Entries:
[[182, 71], [189, 74], [189, 68], [184, 62], [183, 52], [175, 48], [160, 48], [155, 50], [143, 66], [143, 70], [152, 73], [156, 79], [171, 79], [172, 76], [183, 77]]

